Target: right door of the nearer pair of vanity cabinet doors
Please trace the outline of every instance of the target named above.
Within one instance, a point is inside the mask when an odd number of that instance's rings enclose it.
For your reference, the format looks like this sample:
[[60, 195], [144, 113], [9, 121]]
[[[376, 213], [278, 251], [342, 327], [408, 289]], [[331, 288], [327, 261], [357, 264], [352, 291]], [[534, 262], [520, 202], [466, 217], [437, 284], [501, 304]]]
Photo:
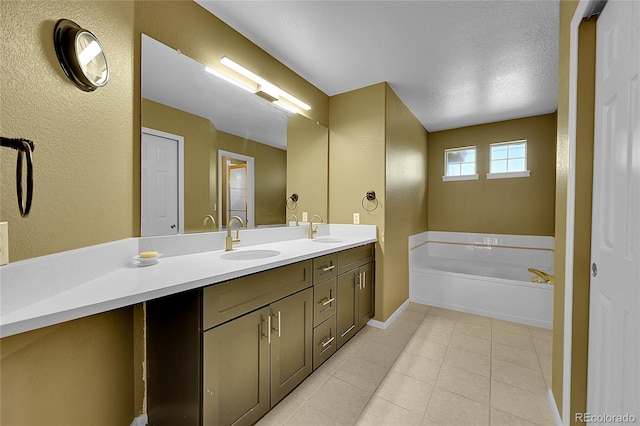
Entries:
[[312, 305], [311, 288], [271, 304], [271, 406], [311, 374]]

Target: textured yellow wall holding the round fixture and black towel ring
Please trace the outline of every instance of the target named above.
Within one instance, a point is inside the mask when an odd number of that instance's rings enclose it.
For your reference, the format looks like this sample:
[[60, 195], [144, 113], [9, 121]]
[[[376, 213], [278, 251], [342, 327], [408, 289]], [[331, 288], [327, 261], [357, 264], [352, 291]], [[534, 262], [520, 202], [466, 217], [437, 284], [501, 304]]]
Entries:
[[[0, 151], [2, 210], [10, 261], [133, 235], [133, 4], [3, 1], [0, 83], [2, 136], [35, 142], [34, 199], [21, 218], [16, 153]], [[92, 31], [109, 61], [109, 83], [76, 88], [53, 47], [60, 18]]]

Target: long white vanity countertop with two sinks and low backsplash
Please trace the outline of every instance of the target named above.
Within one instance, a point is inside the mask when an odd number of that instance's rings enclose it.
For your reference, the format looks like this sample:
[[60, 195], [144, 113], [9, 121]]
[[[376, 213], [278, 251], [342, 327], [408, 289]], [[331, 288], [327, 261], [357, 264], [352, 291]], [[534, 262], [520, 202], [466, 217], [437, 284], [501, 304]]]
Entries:
[[[248, 236], [248, 233], [251, 232], [251, 230], [241, 231], [241, 238]], [[288, 238], [292, 238], [293, 232], [298, 232], [297, 235], [294, 235], [295, 237], [300, 234], [299, 231], [274, 230], [262, 231], [258, 235], [270, 236], [266, 239], [263, 238], [263, 240], [269, 241], [274, 239], [273, 235], [276, 235], [276, 232], [280, 235], [288, 233]], [[376, 241], [376, 228], [367, 225], [325, 225], [324, 232], [320, 232], [314, 240], [296, 238], [271, 241], [245, 245], [233, 250], [240, 252], [258, 249], [280, 252], [277, 256], [264, 259], [227, 260], [221, 256], [229, 252], [215, 250], [165, 255], [159, 259], [157, 264], [145, 267], [139, 267], [138, 263], [131, 259], [131, 256], [136, 254], [136, 252], [131, 253], [132, 241], [137, 243], [137, 240], [129, 239], [123, 244], [108, 246], [107, 248], [111, 251], [109, 256], [115, 258], [114, 264], [120, 263], [120, 265], [112, 270], [102, 270], [95, 277], [86, 275], [88, 268], [82, 266], [80, 271], [76, 271], [77, 274], [73, 275], [74, 270], [69, 267], [69, 265], [73, 265], [73, 259], [88, 262], [85, 252], [86, 250], [94, 250], [93, 254], [95, 255], [95, 249], [92, 248], [75, 250], [64, 256], [44, 256], [43, 258], [17, 262], [17, 265], [10, 264], [2, 267], [0, 269], [0, 290], [3, 299], [2, 311], [0, 312], [0, 337], [130, 306], [146, 300], [372, 243]], [[150, 245], [153, 245], [153, 241], [155, 240], [140, 239], [139, 247], [136, 248], [146, 250]], [[164, 244], [166, 246], [167, 242], [165, 241]], [[122, 260], [118, 258], [121, 246], [126, 246], [127, 250], [126, 253], [122, 253]], [[83, 255], [85, 257], [82, 257]], [[91, 262], [99, 261], [99, 258], [96, 259], [95, 256], [92, 259]], [[56, 268], [55, 262], [64, 263], [65, 267]], [[12, 267], [8, 268], [8, 266]], [[87, 266], [90, 267], [90, 265]], [[34, 272], [34, 269], [38, 268], [42, 269], [42, 273]], [[63, 272], [60, 272], [61, 270]], [[64, 275], [65, 273], [71, 275], [69, 277], [43, 278], [46, 273], [52, 273], [52, 271], [54, 271], [54, 275]], [[33, 275], [30, 280], [34, 282], [26, 282], [29, 279], [25, 277], [29, 274]], [[77, 281], [77, 275], [83, 274], [87, 276], [86, 281], [80, 280], [80, 282], [73, 282], [71, 285], [56, 284], [73, 281], [73, 279]], [[23, 278], [25, 283], [21, 287], [20, 281]], [[51, 287], [57, 287], [57, 289], [52, 290]], [[42, 291], [39, 290], [40, 288]], [[35, 296], [21, 294], [34, 291], [37, 293]], [[12, 303], [14, 301], [15, 303]]]

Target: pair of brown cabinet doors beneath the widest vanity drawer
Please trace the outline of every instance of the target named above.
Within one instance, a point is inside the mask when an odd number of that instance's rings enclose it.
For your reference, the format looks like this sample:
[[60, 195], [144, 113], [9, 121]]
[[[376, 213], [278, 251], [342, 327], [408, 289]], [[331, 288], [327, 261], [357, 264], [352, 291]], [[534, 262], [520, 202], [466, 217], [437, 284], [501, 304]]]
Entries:
[[204, 425], [253, 424], [312, 371], [312, 290], [203, 333]]

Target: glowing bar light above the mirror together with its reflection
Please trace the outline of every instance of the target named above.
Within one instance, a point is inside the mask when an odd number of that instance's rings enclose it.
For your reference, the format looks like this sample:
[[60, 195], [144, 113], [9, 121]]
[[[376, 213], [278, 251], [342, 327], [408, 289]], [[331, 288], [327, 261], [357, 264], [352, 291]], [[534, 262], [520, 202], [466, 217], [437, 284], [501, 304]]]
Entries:
[[282, 90], [278, 86], [264, 78], [260, 77], [256, 73], [248, 70], [237, 62], [233, 61], [227, 56], [223, 56], [220, 59], [220, 63], [227, 68], [235, 71], [240, 74], [242, 77], [249, 80], [251, 83], [247, 83], [244, 81], [240, 81], [237, 78], [234, 78], [230, 75], [224, 74], [220, 71], [214, 70], [210, 67], [206, 67], [205, 70], [216, 77], [222, 78], [248, 92], [255, 93], [256, 95], [272, 102], [274, 105], [279, 106], [280, 108], [286, 109], [287, 111], [298, 113], [297, 108], [302, 108], [305, 111], [311, 109], [311, 106], [300, 99], [296, 98], [292, 94]]

